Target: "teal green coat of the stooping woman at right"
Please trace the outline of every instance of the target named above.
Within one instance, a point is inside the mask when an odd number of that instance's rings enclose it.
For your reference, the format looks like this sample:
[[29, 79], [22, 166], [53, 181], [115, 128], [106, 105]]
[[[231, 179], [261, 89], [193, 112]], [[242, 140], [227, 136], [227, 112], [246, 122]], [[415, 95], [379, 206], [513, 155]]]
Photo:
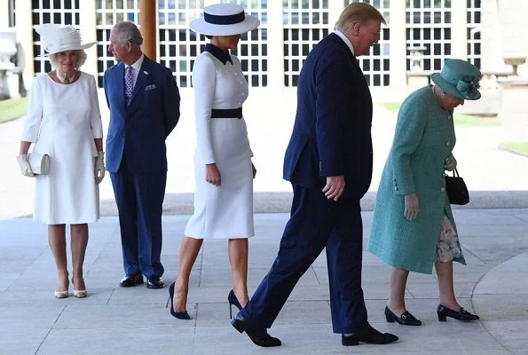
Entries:
[[[444, 170], [455, 141], [453, 112], [437, 104], [430, 86], [414, 91], [404, 101], [376, 196], [367, 246], [385, 263], [431, 273], [444, 214], [456, 231]], [[412, 221], [404, 217], [408, 193], [416, 193], [420, 204]], [[462, 255], [454, 261], [465, 264]]]

